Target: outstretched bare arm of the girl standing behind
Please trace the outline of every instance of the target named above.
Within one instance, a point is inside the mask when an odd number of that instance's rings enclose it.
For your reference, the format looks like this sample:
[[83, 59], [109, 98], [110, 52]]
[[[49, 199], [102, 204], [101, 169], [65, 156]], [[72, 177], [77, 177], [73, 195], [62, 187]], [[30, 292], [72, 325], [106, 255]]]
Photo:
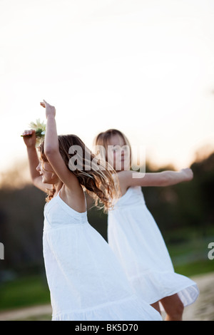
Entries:
[[[134, 175], [135, 174], [135, 175]], [[138, 174], [138, 175], [136, 175]], [[187, 182], [193, 179], [193, 171], [189, 168], [180, 171], [163, 171], [153, 173], [141, 173], [133, 171], [121, 171], [118, 173], [121, 187], [131, 186], [170, 186], [179, 182]]]

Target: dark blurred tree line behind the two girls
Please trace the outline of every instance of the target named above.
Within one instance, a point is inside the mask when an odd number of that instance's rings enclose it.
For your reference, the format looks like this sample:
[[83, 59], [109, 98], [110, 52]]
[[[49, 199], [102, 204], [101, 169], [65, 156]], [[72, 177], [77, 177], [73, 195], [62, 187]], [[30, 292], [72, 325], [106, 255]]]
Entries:
[[[190, 182], [170, 187], [143, 187], [148, 210], [167, 243], [180, 243], [188, 238], [190, 232], [206, 236], [210, 227], [213, 228], [214, 153], [193, 163], [191, 168], [194, 178]], [[173, 168], [166, 166], [161, 170]], [[146, 172], [155, 171], [148, 165]], [[17, 181], [19, 174], [14, 170], [5, 178]], [[4, 260], [0, 260], [0, 282], [10, 272], [44, 272], [42, 233], [45, 197], [32, 185], [20, 184], [16, 188], [14, 184], [11, 187], [7, 183], [1, 185], [0, 242], [4, 244]], [[107, 240], [107, 215], [94, 208], [90, 198], [88, 208], [88, 221]]]

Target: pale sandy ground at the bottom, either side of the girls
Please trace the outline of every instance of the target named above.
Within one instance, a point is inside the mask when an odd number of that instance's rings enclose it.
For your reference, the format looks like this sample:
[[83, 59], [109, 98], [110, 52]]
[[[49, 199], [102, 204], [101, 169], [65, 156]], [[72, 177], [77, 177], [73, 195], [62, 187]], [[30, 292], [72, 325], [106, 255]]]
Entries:
[[[185, 308], [183, 321], [214, 321], [214, 272], [192, 278], [200, 289], [194, 304]], [[0, 313], [0, 321], [51, 320], [51, 306], [41, 305]]]

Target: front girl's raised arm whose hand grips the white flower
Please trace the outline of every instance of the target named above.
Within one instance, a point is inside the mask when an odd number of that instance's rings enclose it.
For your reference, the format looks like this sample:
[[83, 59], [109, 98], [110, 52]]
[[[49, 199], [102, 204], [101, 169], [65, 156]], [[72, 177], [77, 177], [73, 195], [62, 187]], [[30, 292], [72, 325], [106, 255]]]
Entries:
[[46, 190], [50, 189], [51, 186], [42, 182], [42, 177], [39, 174], [39, 171], [36, 170], [37, 166], [39, 165], [39, 158], [36, 152], [35, 130], [24, 130], [22, 136], [28, 153], [31, 180], [34, 186], [38, 187], [39, 190], [46, 192]]

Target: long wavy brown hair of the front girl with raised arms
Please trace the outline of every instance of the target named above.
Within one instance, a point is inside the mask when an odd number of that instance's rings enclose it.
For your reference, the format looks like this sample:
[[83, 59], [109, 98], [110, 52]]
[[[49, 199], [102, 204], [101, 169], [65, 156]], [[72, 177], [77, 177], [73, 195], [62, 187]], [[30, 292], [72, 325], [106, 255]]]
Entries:
[[[73, 153], [69, 153], [70, 148], [74, 145], [81, 148], [82, 155], [78, 155], [75, 150]], [[63, 161], [66, 163], [66, 167], [68, 170], [72, 170], [83, 189], [93, 197], [95, 205], [103, 207], [105, 212], [111, 209], [113, 207], [113, 198], [119, 196], [119, 188], [116, 175], [113, 175], [112, 169], [108, 169], [107, 163], [104, 160], [102, 161], [101, 158], [96, 158], [96, 155], [76, 135], [58, 135], [58, 149]], [[48, 162], [44, 153], [44, 142], [39, 146], [39, 151], [41, 159], [44, 162]], [[71, 159], [74, 156], [77, 160], [78, 158], [81, 160], [82, 169], [78, 169], [78, 165], [71, 167]], [[54, 188], [48, 192], [46, 201], [54, 197], [54, 192]]]

